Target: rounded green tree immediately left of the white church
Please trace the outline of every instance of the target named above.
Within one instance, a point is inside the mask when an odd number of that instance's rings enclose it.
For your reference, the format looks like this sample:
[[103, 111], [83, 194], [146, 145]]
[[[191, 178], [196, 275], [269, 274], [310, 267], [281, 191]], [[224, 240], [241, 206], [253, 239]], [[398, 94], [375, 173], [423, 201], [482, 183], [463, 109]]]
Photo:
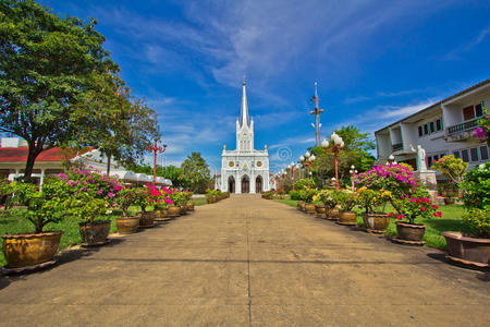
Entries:
[[181, 184], [195, 193], [204, 193], [211, 181], [208, 164], [200, 153], [192, 153], [181, 166]]

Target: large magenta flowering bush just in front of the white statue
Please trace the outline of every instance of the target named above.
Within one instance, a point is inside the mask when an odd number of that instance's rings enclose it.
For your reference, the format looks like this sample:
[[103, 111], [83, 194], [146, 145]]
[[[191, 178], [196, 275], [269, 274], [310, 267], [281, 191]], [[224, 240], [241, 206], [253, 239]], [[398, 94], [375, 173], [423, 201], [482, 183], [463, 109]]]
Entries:
[[414, 193], [422, 187], [411, 168], [404, 165], [380, 165], [354, 178], [356, 187], [389, 191], [393, 196]]

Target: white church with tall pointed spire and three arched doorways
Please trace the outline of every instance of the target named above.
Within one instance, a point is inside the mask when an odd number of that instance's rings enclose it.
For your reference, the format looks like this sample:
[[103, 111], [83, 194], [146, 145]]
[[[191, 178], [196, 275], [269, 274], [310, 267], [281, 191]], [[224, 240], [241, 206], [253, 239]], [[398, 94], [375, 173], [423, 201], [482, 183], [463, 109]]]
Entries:
[[269, 154], [254, 149], [254, 120], [248, 117], [247, 94], [243, 82], [242, 110], [236, 120], [236, 149], [221, 155], [221, 175], [217, 175], [216, 189], [235, 194], [260, 193], [270, 190]]

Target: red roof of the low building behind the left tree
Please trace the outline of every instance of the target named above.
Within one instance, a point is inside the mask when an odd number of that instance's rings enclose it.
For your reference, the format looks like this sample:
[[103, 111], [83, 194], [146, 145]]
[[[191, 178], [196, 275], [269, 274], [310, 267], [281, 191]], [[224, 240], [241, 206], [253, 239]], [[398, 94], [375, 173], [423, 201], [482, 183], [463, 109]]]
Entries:
[[[0, 162], [25, 162], [27, 161], [27, 147], [0, 147]], [[73, 149], [61, 149], [59, 147], [53, 147], [41, 152], [39, 156], [37, 156], [36, 162], [63, 161], [72, 159], [81, 153], [77, 153]]]

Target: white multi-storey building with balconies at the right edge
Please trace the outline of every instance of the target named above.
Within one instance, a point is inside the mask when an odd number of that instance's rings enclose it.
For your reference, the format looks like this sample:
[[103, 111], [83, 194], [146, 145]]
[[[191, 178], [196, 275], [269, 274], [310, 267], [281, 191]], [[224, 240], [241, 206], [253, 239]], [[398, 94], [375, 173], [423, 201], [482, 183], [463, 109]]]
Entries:
[[[489, 148], [471, 135], [490, 105], [490, 78], [438, 101], [375, 132], [379, 164], [390, 155], [415, 168], [417, 145], [426, 149], [427, 166], [454, 155], [469, 167], [489, 160]], [[412, 146], [411, 146], [412, 144]]]

